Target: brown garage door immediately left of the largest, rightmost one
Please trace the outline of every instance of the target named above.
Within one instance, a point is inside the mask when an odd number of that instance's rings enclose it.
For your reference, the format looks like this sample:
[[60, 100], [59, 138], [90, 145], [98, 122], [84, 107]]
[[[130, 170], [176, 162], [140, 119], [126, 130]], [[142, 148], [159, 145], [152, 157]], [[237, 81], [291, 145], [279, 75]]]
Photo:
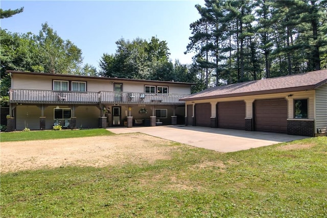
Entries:
[[218, 107], [218, 127], [245, 129], [245, 102], [220, 102]]

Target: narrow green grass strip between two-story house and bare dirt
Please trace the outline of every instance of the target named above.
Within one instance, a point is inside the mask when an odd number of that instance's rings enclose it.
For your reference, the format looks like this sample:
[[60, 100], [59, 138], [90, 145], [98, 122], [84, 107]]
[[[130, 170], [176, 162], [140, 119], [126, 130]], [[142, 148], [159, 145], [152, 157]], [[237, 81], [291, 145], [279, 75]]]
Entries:
[[85, 129], [85, 130], [43, 130], [29, 132], [2, 132], [0, 133], [0, 141], [27, 141], [27, 140], [45, 140], [56, 138], [77, 138], [98, 135], [113, 135], [105, 129]]

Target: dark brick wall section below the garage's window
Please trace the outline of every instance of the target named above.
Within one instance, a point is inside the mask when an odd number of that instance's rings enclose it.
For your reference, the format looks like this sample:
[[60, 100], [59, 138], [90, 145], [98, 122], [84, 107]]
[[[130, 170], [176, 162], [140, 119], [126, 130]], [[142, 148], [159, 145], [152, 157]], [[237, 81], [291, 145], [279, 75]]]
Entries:
[[287, 134], [314, 137], [314, 120], [287, 120]]

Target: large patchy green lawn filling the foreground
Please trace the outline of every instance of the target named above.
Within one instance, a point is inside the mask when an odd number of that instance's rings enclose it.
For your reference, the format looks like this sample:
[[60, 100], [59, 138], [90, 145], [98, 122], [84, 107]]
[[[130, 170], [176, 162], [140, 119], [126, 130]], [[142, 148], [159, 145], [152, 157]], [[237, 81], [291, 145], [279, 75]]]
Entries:
[[1, 175], [2, 217], [327, 217], [327, 137]]

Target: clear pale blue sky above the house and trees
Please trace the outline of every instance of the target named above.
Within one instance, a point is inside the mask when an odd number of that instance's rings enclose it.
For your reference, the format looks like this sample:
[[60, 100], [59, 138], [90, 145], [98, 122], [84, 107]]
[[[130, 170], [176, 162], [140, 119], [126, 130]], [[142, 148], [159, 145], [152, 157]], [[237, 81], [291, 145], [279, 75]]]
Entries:
[[115, 41], [137, 37], [165, 40], [172, 61], [191, 63], [193, 54], [184, 55], [191, 36], [190, 24], [200, 18], [196, 4], [183, 1], [1, 1], [1, 8], [24, 12], [1, 19], [1, 28], [12, 33], [38, 34], [41, 24], [71, 40], [83, 52], [84, 63], [99, 68], [104, 53], [114, 54]]

